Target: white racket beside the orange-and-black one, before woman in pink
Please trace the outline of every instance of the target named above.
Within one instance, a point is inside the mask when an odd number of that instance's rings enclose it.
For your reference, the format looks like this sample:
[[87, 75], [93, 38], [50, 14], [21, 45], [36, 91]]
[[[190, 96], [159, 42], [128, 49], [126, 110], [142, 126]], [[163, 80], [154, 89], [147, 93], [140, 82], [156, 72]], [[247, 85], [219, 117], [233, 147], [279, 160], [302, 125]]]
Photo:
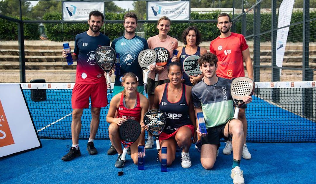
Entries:
[[[157, 61], [157, 52], [152, 49], [142, 50], [138, 55], [139, 66], [143, 69], [144, 84], [147, 84], [149, 65], [155, 65]], [[147, 69], [147, 71], [146, 71]]]

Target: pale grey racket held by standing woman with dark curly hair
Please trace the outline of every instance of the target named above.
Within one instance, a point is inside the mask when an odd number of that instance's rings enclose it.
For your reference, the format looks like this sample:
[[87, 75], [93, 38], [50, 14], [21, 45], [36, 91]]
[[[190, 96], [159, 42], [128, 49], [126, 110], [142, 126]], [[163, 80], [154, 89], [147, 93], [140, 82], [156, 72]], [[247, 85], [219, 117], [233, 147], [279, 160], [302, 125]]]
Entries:
[[200, 65], [198, 65], [197, 60], [200, 56], [192, 55], [188, 56], [183, 61], [183, 70], [185, 74], [188, 76], [192, 75], [196, 77], [197, 75], [201, 74]]

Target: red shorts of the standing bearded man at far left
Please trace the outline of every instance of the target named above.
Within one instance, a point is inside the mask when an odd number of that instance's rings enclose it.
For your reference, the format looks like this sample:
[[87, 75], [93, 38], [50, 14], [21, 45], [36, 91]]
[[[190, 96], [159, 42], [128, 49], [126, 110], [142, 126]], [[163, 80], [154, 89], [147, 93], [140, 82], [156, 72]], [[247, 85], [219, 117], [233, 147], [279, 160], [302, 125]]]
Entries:
[[105, 107], [108, 104], [106, 93], [106, 82], [98, 84], [75, 84], [71, 97], [72, 109], [88, 108], [89, 97], [91, 97], [91, 107]]

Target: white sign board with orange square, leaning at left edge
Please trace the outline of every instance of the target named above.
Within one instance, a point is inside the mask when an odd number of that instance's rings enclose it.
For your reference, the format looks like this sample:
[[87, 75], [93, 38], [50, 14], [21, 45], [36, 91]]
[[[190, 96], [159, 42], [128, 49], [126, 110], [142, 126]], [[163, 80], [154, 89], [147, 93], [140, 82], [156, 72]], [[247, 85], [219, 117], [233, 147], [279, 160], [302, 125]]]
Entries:
[[0, 84], [0, 158], [41, 147], [20, 84]]

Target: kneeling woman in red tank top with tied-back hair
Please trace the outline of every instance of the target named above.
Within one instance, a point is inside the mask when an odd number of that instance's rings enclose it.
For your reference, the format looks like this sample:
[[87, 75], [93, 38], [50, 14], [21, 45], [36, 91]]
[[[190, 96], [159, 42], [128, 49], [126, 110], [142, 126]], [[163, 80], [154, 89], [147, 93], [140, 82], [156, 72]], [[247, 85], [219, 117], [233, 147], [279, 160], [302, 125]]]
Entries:
[[[122, 167], [123, 161], [121, 156], [123, 153], [121, 139], [119, 137], [119, 126], [126, 122], [126, 119], [133, 119], [141, 122], [143, 125], [143, 117], [148, 111], [148, 99], [137, 92], [137, 78], [134, 73], [126, 73], [123, 77], [122, 86], [124, 91], [116, 94], [111, 102], [110, 109], [106, 116], [106, 121], [109, 125], [110, 140], [118, 151], [118, 158], [115, 162], [115, 167]], [[117, 111], [117, 117], [115, 112]], [[130, 146], [131, 158], [135, 164], [138, 164], [138, 146], [145, 145], [145, 130], [142, 128], [142, 133], [139, 138]]]

